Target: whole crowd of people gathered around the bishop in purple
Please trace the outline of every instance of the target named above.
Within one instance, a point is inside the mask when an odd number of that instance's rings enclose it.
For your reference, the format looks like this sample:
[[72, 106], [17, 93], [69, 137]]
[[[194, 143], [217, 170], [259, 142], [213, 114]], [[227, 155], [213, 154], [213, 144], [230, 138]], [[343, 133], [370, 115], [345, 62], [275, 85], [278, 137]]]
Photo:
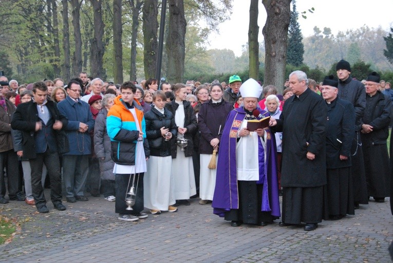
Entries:
[[344, 60], [336, 73], [317, 84], [294, 71], [282, 94], [237, 75], [172, 85], [86, 72], [68, 83], [2, 76], [0, 203], [47, 213], [49, 184], [61, 211], [63, 196], [72, 203], [89, 193], [136, 221], [145, 209], [173, 213], [199, 197], [233, 227], [281, 218], [281, 227], [315, 230], [393, 189], [390, 83], [377, 72], [355, 80]]

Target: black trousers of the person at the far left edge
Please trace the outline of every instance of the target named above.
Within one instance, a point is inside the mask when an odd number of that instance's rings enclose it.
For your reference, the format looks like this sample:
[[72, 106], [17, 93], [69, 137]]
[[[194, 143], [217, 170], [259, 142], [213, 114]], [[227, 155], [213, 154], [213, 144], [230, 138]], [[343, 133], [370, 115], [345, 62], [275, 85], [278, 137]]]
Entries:
[[7, 171], [8, 196], [14, 198], [22, 194], [22, 180], [19, 176], [18, 157], [13, 149], [0, 153], [0, 197], [6, 195], [4, 168]]

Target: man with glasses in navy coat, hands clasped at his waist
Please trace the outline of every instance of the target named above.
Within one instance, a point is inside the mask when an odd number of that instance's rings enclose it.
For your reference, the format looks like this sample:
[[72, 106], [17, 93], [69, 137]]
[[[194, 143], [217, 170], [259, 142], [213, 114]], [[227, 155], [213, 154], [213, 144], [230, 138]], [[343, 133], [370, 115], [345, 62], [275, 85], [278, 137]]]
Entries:
[[89, 132], [94, 127], [90, 106], [81, 101], [81, 85], [71, 80], [67, 85], [68, 96], [59, 102], [61, 114], [67, 117], [65, 131], [69, 141], [69, 152], [63, 155], [63, 177], [67, 202], [87, 201], [84, 195], [88, 175], [88, 156], [91, 154]]

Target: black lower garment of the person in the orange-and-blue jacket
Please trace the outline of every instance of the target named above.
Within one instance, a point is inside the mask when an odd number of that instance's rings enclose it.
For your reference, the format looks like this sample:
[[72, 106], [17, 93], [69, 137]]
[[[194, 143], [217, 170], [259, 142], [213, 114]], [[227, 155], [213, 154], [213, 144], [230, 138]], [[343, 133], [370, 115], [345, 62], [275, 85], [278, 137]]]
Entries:
[[116, 213], [122, 215], [136, 215], [139, 212], [143, 211], [143, 174], [144, 173], [140, 173], [139, 176], [137, 174], [135, 177], [135, 187], [137, 187], [138, 184], [138, 188], [135, 198], [135, 204], [132, 206], [133, 210], [125, 210], [127, 208], [127, 204], [125, 203], [126, 193], [128, 192], [129, 187], [133, 183], [133, 175], [115, 174]]

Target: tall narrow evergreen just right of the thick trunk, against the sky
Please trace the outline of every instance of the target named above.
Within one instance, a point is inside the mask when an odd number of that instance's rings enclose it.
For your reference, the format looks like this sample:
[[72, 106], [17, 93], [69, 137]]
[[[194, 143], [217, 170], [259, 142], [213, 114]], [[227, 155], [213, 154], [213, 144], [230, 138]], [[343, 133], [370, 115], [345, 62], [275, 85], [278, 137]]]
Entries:
[[297, 22], [298, 13], [296, 11], [296, 1], [293, 1], [291, 11], [291, 22], [288, 28], [288, 50], [287, 63], [300, 66], [303, 63], [304, 45], [300, 25]]

